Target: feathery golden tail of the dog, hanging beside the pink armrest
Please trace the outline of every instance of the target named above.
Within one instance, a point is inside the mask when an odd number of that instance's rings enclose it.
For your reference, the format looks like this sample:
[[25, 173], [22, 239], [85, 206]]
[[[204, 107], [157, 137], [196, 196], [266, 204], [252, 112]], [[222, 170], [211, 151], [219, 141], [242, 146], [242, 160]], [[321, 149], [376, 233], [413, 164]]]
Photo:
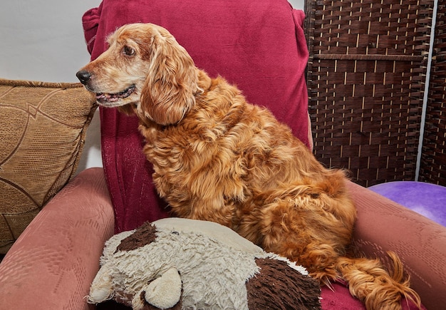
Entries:
[[339, 257], [337, 269], [348, 281], [353, 296], [363, 301], [367, 309], [401, 309], [401, 297], [420, 309], [420, 296], [410, 288], [403, 264], [394, 252], [388, 252], [393, 271], [387, 272], [379, 259]]

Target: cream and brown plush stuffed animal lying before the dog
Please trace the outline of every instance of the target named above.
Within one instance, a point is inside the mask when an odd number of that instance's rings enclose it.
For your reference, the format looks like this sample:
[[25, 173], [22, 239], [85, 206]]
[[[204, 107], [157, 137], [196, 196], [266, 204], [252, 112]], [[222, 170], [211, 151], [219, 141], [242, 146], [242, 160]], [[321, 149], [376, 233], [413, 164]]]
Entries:
[[320, 309], [304, 267], [214, 222], [167, 218], [105, 243], [88, 302], [133, 309]]

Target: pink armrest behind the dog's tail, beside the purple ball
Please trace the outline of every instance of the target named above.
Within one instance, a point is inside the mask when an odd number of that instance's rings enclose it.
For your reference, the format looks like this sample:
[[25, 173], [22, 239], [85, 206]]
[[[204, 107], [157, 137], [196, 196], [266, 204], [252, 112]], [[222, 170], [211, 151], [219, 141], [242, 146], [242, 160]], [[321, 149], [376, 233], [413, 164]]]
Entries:
[[383, 262], [388, 262], [386, 251], [396, 252], [424, 306], [444, 307], [446, 227], [353, 182], [348, 188], [358, 210], [355, 250]]

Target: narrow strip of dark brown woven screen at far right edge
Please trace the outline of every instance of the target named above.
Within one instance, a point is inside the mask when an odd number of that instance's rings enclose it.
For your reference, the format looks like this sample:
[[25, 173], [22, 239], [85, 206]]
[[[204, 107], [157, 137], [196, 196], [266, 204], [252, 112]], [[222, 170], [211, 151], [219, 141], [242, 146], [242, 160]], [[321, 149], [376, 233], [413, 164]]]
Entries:
[[420, 180], [446, 186], [446, 1], [438, 1]]

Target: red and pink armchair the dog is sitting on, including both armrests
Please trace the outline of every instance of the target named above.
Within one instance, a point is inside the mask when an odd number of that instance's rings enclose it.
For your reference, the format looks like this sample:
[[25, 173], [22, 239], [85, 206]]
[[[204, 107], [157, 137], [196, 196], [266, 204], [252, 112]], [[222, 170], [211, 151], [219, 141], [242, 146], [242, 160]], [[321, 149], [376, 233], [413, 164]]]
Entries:
[[[197, 66], [237, 83], [249, 101], [269, 107], [311, 147], [300, 11], [285, 0], [144, 2], [104, 0], [85, 14], [92, 58], [120, 24], [165, 26]], [[80, 172], [11, 247], [0, 264], [0, 309], [94, 309], [85, 296], [105, 240], [168, 216], [140, 152], [138, 122], [115, 110], [100, 112], [104, 168]], [[444, 306], [446, 228], [364, 187], [348, 187], [358, 208], [356, 252], [384, 261], [387, 250], [397, 252], [427, 309]], [[346, 291], [341, 284], [335, 288], [339, 294]], [[323, 309], [358, 309], [357, 301], [339, 294], [323, 291]]]

